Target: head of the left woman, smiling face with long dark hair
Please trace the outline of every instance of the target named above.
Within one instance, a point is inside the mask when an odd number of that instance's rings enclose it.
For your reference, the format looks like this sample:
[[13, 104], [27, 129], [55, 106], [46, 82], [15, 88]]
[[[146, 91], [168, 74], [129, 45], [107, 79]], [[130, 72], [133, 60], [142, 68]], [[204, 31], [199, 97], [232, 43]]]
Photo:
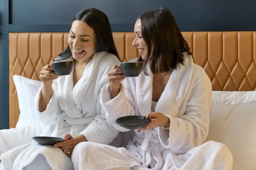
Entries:
[[[99, 22], [95, 22], [99, 21]], [[80, 11], [72, 20], [72, 27], [69, 33], [66, 49], [59, 54], [54, 61], [62, 61], [75, 54], [73, 57], [79, 60], [79, 52], [83, 52], [84, 57], [91, 57], [94, 46], [94, 52], [108, 51], [116, 56], [117, 50], [111, 33], [111, 28], [107, 16], [96, 9], [85, 9]], [[104, 29], [103, 29], [104, 28]], [[85, 45], [86, 44], [86, 45]], [[89, 46], [91, 48], [89, 48]], [[89, 51], [88, 51], [89, 50]]]

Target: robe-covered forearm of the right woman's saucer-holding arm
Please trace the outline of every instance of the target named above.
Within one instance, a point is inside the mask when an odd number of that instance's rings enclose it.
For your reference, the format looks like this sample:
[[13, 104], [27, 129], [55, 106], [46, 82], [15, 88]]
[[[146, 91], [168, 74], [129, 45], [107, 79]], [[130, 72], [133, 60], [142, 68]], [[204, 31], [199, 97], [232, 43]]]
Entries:
[[187, 115], [180, 118], [168, 117], [169, 130], [158, 128], [158, 137], [165, 148], [170, 148], [175, 153], [185, 153], [205, 140], [207, 123], [200, 120], [191, 121]]

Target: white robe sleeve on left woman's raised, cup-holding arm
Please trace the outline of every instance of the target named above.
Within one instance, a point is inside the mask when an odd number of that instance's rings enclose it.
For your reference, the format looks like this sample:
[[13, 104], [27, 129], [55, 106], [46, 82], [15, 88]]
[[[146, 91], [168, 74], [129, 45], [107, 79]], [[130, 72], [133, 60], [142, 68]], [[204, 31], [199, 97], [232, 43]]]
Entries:
[[58, 92], [57, 80], [53, 81], [52, 89], [53, 89], [53, 92], [52, 92], [51, 99], [44, 112], [39, 111], [39, 100], [41, 98], [42, 87], [38, 90], [34, 100], [35, 113], [40, 117], [43, 125], [45, 126], [50, 126], [55, 124], [57, 122], [57, 118], [61, 114], [61, 109], [59, 107], [59, 103], [57, 100], [57, 92]]

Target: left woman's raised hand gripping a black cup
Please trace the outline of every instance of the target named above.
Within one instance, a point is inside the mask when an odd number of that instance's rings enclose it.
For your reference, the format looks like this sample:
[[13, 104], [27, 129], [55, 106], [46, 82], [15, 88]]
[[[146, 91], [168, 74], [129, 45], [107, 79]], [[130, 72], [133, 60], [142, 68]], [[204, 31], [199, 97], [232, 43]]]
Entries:
[[51, 86], [53, 80], [58, 78], [58, 75], [53, 72], [51, 64], [45, 65], [40, 71], [39, 78], [42, 80], [45, 86]]

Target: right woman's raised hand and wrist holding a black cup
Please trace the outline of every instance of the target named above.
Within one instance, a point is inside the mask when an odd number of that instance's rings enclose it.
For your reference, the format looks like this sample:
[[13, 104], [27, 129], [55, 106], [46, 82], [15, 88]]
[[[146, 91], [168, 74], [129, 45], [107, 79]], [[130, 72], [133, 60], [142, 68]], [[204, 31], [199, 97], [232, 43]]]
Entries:
[[120, 82], [125, 79], [121, 67], [114, 65], [108, 73], [109, 86], [112, 98], [115, 98], [120, 92]]

